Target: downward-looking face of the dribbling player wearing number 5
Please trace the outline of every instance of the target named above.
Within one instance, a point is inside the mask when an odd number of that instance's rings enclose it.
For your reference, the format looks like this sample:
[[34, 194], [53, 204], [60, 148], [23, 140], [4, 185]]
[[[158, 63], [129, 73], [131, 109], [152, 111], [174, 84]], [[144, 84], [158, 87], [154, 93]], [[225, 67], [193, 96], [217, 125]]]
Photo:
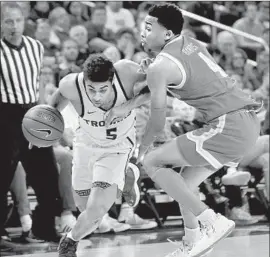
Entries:
[[90, 98], [90, 101], [96, 107], [105, 107], [111, 102], [111, 96], [113, 92], [112, 82], [93, 82], [91, 80], [86, 80], [86, 93]]

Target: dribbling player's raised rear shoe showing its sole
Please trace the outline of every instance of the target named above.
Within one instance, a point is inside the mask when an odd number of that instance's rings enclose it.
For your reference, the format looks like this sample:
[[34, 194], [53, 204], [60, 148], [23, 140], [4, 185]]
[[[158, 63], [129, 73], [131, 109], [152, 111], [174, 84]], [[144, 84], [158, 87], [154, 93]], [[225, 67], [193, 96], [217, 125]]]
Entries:
[[140, 190], [138, 187], [138, 179], [140, 177], [140, 170], [132, 163], [128, 164], [125, 176], [125, 186], [123, 189], [123, 196], [126, 202], [135, 207], [140, 201]]

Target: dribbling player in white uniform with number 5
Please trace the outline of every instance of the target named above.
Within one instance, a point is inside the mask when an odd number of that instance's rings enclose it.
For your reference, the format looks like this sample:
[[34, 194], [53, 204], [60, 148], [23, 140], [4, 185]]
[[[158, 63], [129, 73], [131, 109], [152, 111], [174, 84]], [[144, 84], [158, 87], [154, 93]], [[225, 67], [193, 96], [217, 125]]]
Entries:
[[[139, 68], [131, 61], [113, 65], [104, 55], [90, 55], [83, 72], [64, 77], [52, 96], [53, 107], [61, 110], [71, 102], [80, 116], [73, 145], [72, 184], [82, 213], [60, 241], [59, 257], [76, 256], [78, 241], [97, 228], [123, 191], [126, 166], [135, 146], [133, 109], [149, 99], [147, 94], [133, 98], [135, 83], [145, 79], [145, 74], [137, 72]], [[130, 112], [106, 124], [107, 111], [127, 101]]]

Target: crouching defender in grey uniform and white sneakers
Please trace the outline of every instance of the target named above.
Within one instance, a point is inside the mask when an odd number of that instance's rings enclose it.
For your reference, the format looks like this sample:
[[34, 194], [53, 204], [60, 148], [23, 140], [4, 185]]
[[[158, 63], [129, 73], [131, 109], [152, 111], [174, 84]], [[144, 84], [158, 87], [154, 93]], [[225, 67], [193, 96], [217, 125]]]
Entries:
[[[260, 130], [255, 110], [261, 104], [234, 86], [205, 47], [180, 35], [183, 22], [176, 5], [154, 5], [141, 34], [142, 44], [158, 55], [147, 69], [151, 117], [139, 161], [152, 180], [184, 207], [185, 237], [167, 257], [201, 256], [233, 230], [234, 222], [210, 210], [192, 189], [223, 165], [237, 166]], [[147, 152], [164, 128], [167, 91], [195, 107], [205, 125]], [[183, 167], [181, 176], [167, 165]]]

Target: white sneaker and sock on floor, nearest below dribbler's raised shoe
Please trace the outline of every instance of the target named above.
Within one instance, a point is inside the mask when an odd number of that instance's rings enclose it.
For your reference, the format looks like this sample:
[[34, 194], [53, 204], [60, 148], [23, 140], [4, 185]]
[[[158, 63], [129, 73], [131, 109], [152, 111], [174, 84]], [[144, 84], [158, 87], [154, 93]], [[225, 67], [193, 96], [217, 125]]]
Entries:
[[127, 203], [122, 204], [118, 221], [129, 224], [131, 230], [151, 229], [158, 226], [155, 221], [145, 220], [139, 217]]

